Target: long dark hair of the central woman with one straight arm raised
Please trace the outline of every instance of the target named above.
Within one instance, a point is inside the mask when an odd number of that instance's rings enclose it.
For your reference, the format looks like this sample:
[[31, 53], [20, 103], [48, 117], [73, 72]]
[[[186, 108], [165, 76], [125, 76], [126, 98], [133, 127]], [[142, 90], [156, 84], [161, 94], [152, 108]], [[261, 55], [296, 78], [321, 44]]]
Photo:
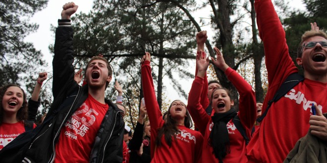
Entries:
[[[174, 100], [172, 103], [174, 103], [175, 101], [179, 101], [179, 100]], [[174, 137], [174, 139], [176, 140], [175, 134], [179, 132], [179, 130], [177, 128], [177, 122], [170, 117], [170, 108], [171, 108], [172, 103], [170, 104], [170, 106], [168, 108], [166, 121], [164, 122], [163, 127], [161, 127], [158, 131], [158, 136], [156, 138], [157, 146], [160, 146], [162, 144], [161, 137], [164, 136], [164, 140], [166, 141], [168, 146], [171, 147], [171, 141], [172, 141], [171, 137]], [[185, 109], [186, 109], [186, 106], [185, 106]], [[186, 117], [184, 120], [184, 125], [187, 128], [191, 128], [193, 126], [191, 116], [188, 113], [187, 109], [186, 109]]]

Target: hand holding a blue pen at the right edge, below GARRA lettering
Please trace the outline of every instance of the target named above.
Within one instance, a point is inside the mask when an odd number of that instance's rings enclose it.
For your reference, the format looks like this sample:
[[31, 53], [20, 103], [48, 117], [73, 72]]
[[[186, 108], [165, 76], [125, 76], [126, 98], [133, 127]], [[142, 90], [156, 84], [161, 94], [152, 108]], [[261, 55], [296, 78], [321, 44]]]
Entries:
[[311, 134], [327, 141], [327, 119], [317, 105], [315, 107], [317, 115], [310, 116], [309, 121]]

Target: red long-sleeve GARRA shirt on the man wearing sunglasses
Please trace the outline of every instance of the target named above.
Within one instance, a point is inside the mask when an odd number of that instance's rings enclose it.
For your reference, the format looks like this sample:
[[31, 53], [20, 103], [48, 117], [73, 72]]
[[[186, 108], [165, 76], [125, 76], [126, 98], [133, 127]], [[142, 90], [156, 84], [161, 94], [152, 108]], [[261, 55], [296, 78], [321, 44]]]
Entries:
[[[269, 87], [263, 104], [264, 112], [282, 82], [298, 70], [288, 54], [285, 32], [272, 1], [256, 0], [255, 9], [268, 70]], [[326, 92], [327, 83], [305, 79], [273, 103], [260, 124], [259, 132], [253, 135], [247, 146], [249, 162], [283, 162], [296, 141], [308, 132], [312, 103], [317, 104], [319, 109], [323, 108], [323, 113], [327, 111]]]

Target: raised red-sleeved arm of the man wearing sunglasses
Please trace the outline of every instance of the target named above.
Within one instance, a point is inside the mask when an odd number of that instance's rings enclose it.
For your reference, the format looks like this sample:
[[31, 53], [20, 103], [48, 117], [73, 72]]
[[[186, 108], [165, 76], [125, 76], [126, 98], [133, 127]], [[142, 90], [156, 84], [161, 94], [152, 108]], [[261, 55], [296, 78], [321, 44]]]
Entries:
[[297, 72], [297, 68], [288, 54], [285, 31], [272, 0], [256, 0], [255, 10], [259, 35], [265, 46], [269, 87], [275, 84], [279, 87], [289, 74]]

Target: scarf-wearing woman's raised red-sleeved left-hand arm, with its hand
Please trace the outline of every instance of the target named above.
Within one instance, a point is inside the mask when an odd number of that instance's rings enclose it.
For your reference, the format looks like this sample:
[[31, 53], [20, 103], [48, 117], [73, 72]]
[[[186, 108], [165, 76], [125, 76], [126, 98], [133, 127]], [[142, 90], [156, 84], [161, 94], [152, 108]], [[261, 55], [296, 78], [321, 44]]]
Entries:
[[210, 121], [210, 116], [206, 113], [205, 108], [200, 103], [200, 95], [204, 85], [204, 76], [207, 75], [209, 58], [204, 58], [200, 53], [196, 56], [198, 73], [195, 77], [190, 93], [188, 95], [187, 110], [193, 121], [197, 124], [202, 135], [205, 134], [206, 126]]

